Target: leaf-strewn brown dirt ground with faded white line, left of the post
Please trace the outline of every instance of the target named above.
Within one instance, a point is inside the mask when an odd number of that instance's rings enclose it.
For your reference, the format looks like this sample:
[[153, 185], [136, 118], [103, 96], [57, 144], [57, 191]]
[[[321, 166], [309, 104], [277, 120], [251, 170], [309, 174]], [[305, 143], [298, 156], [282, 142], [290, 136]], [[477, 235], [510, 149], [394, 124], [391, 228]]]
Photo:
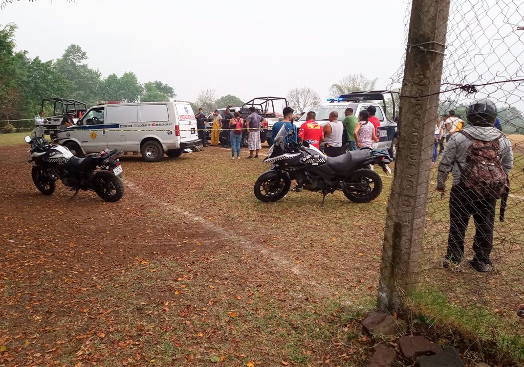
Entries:
[[[367, 357], [351, 322], [373, 306], [380, 233], [346, 241], [352, 231], [336, 221], [366, 218], [342, 195], [322, 209], [313, 193], [261, 204], [252, 185], [267, 167], [211, 148], [158, 164], [125, 157], [117, 203], [91, 192], [71, 199], [60, 183], [48, 197], [27, 159], [24, 145], [0, 147], [0, 364], [334, 366]], [[217, 182], [217, 169], [230, 181]], [[330, 215], [325, 229], [314, 222]], [[318, 226], [315, 238], [301, 231], [308, 226]]]

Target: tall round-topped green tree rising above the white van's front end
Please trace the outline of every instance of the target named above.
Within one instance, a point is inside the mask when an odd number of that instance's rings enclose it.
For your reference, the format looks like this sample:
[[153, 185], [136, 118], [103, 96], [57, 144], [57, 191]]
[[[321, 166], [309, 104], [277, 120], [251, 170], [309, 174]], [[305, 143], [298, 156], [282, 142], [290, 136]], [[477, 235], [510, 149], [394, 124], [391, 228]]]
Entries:
[[62, 57], [56, 61], [57, 71], [69, 81], [70, 98], [88, 104], [100, 99], [100, 71], [89, 68], [87, 53], [78, 45], [69, 45]]

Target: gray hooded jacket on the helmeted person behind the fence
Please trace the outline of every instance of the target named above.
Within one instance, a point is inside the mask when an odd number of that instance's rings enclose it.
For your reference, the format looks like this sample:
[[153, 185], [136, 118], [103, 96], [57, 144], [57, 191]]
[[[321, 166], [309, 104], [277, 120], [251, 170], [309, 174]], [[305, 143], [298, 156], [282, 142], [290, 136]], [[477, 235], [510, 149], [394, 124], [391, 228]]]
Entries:
[[[464, 132], [483, 142], [490, 142], [497, 139], [501, 133], [495, 127], [487, 126], [466, 126]], [[442, 159], [439, 165], [439, 172], [436, 178], [436, 188], [443, 189], [446, 187], [447, 175], [453, 173], [453, 185], [459, 184], [461, 173], [459, 165], [464, 167], [466, 164], [467, 149], [473, 144], [464, 134], [454, 133], [447, 143]], [[500, 161], [506, 171], [513, 167], [513, 150], [511, 143], [506, 136], [500, 138]]]

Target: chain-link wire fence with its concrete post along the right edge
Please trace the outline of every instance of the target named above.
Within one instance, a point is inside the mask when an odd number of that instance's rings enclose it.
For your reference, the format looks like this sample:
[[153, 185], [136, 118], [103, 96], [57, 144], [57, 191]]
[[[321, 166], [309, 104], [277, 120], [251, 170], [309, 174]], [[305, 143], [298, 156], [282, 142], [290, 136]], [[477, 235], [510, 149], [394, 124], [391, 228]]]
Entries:
[[[477, 347], [470, 349], [473, 361], [491, 358], [503, 364], [522, 363], [524, 30], [520, 27], [524, 26], [524, 2], [421, 0], [406, 5], [406, 57], [389, 85], [390, 89], [401, 88], [399, 155], [395, 168], [396, 176], [401, 177], [395, 177], [389, 202], [381, 269], [383, 294], [379, 293], [379, 305], [382, 297], [385, 308], [402, 308], [411, 318], [412, 325], [426, 330], [454, 330], [469, 341], [477, 341]], [[439, 24], [438, 19], [442, 19], [441, 13], [447, 6], [449, 16], [444, 16], [447, 21]], [[425, 27], [431, 22], [434, 23], [430, 30], [434, 38], [428, 39], [425, 37], [428, 30], [417, 27]], [[442, 30], [445, 41], [439, 39]], [[416, 56], [410, 55], [413, 52]], [[412, 61], [414, 64], [410, 64]], [[438, 77], [440, 67], [441, 78]], [[432, 84], [437, 88], [436, 93], [431, 92]], [[489, 245], [489, 230], [484, 224], [489, 227], [493, 219], [486, 214], [489, 210], [481, 208], [484, 199], [464, 196], [467, 167], [461, 167], [459, 184], [452, 185], [450, 173], [444, 194], [437, 192], [435, 187], [439, 170], [445, 170], [440, 164], [443, 157], [453, 157], [451, 163], [457, 169], [460, 146], [467, 151], [472, 144], [471, 139], [459, 139], [457, 136], [461, 133], [454, 133], [446, 142], [449, 112], [454, 111], [455, 116], [464, 121], [464, 131], [475, 135], [466, 109], [474, 100], [483, 98], [497, 106], [501, 131], [509, 139], [514, 162], [509, 171], [510, 191], [504, 221], [499, 221], [501, 200], [496, 203], [493, 250], [489, 254], [491, 264], [487, 264], [487, 272], [478, 272], [467, 260], [478, 258], [479, 252], [486, 255], [488, 251], [478, 248], [477, 252], [473, 251], [474, 242], [476, 247]], [[412, 121], [413, 116], [421, 117], [419, 121]], [[482, 134], [484, 136], [477, 134], [474, 137], [488, 141], [486, 136], [494, 132]], [[452, 143], [453, 140], [458, 143]], [[419, 146], [413, 147], [417, 144]], [[471, 164], [469, 159], [472, 158], [467, 159]], [[413, 188], [413, 185], [419, 187]], [[450, 213], [452, 186], [463, 188], [460, 194], [455, 188], [455, 199], [462, 195], [462, 199], [467, 197], [468, 200], [454, 200]], [[472, 216], [466, 224], [464, 256], [462, 261], [450, 266], [446, 261], [448, 242], [453, 246], [460, 242], [456, 233], [461, 231], [460, 223], [469, 214]], [[478, 225], [476, 239], [474, 222]], [[403, 229], [411, 232], [408, 234]], [[400, 303], [395, 303], [388, 287], [395, 288], [392, 292], [399, 294]], [[441, 337], [445, 335], [441, 333]]]

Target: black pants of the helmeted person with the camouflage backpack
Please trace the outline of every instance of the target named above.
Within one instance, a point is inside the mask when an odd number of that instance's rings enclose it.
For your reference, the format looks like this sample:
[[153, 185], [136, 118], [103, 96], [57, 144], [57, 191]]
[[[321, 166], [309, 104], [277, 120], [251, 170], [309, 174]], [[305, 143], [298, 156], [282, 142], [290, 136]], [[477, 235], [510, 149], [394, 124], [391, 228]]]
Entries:
[[495, 222], [494, 197], [478, 197], [471, 190], [461, 185], [454, 185], [450, 192], [450, 232], [447, 239], [447, 257], [453, 262], [460, 262], [464, 255], [464, 236], [467, 224], [473, 215], [475, 238], [473, 239], [473, 257], [485, 262], [493, 248], [493, 225]]

